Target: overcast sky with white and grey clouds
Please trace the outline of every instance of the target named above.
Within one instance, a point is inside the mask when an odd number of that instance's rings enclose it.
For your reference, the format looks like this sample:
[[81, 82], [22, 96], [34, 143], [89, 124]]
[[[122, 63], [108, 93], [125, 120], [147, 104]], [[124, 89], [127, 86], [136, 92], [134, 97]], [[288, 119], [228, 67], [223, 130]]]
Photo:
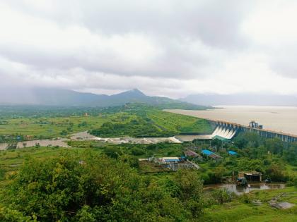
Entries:
[[297, 1], [2, 0], [0, 87], [297, 95]]

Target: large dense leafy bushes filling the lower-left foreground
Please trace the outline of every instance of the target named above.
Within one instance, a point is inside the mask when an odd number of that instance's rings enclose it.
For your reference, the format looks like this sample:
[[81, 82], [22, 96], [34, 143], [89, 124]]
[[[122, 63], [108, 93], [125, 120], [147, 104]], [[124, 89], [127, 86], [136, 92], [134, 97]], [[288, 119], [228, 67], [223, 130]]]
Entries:
[[2, 194], [0, 221], [187, 221], [202, 213], [202, 182], [177, 173], [167, 192], [122, 160], [86, 152], [28, 159]]

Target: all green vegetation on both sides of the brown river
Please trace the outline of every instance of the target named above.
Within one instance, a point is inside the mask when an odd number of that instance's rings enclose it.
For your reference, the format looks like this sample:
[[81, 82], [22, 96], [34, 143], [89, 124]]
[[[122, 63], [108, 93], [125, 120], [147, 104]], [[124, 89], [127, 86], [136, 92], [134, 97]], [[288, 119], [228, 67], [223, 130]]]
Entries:
[[[100, 136], [140, 137], [211, 130], [198, 118], [166, 113], [144, 104], [102, 109], [88, 116], [22, 115], [2, 117], [0, 130], [11, 130], [18, 140], [25, 139], [26, 130], [33, 130], [35, 136], [52, 137], [47, 131], [33, 128], [48, 127], [51, 121], [59, 129], [57, 135], [90, 130]], [[13, 121], [16, 125], [10, 126]], [[18, 132], [21, 121], [29, 122], [24, 134]], [[1, 138], [7, 141], [9, 137]], [[264, 139], [252, 133], [240, 134], [231, 142], [194, 144], [69, 140], [71, 148], [35, 145], [16, 149], [16, 140], [8, 141], [9, 149], [0, 151], [0, 221], [296, 221], [297, 206], [282, 210], [268, 203], [277, 197], [297, 204], [296, 143]], [[211, 149], [223, 158], [190, 158], [200, 168], [177, 172], [158, 163], [138, 161], [183, 156], [183, 151], [191, 147]], [[228, 150], [238, 155], [229, 156]], [[286, 183], [288, 187], [242, 196], [228, 189], [204, 190], [204, 185], [228, 182], [239, 171], [259, 171], [263, 179]], [[255, 201], [261, 204], [253, 204]]]

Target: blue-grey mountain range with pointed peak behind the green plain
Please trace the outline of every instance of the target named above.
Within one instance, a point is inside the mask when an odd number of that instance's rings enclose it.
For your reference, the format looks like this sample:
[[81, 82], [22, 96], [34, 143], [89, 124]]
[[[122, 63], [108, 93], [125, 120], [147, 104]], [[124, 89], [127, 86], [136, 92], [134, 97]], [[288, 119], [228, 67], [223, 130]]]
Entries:
[[0, 104], [30, 104], [47, 106], [120, 106], [127, 103], [146, 103], [162, 109], [206, 109], [207, 107], [165, 97], [148, 97], [134, 89], [119, 94], [93, 94], [62, 89], [6, 89], [1, 90]]

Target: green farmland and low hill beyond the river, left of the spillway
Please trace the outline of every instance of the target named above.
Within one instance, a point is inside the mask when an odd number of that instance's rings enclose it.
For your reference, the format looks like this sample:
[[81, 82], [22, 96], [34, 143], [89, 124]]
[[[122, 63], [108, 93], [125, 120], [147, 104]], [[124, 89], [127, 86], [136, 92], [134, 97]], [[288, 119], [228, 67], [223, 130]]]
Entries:
[[[45, 116], [30, 113], [6, 114], [0, 119], [0, 139], [18, 140], [67, 137], [74, 132], [94, 130], [101, 137], [170, 136], [180, 132], [211, 132], [207, 121], [190, 116], [168, 113], [151, 106], [130, 105], [117, 109], [68, 115], [52, 110]], [[136, 106], [136, 108], [135, 108]], [[1, 141], [1, 140], [0, 140]]]

